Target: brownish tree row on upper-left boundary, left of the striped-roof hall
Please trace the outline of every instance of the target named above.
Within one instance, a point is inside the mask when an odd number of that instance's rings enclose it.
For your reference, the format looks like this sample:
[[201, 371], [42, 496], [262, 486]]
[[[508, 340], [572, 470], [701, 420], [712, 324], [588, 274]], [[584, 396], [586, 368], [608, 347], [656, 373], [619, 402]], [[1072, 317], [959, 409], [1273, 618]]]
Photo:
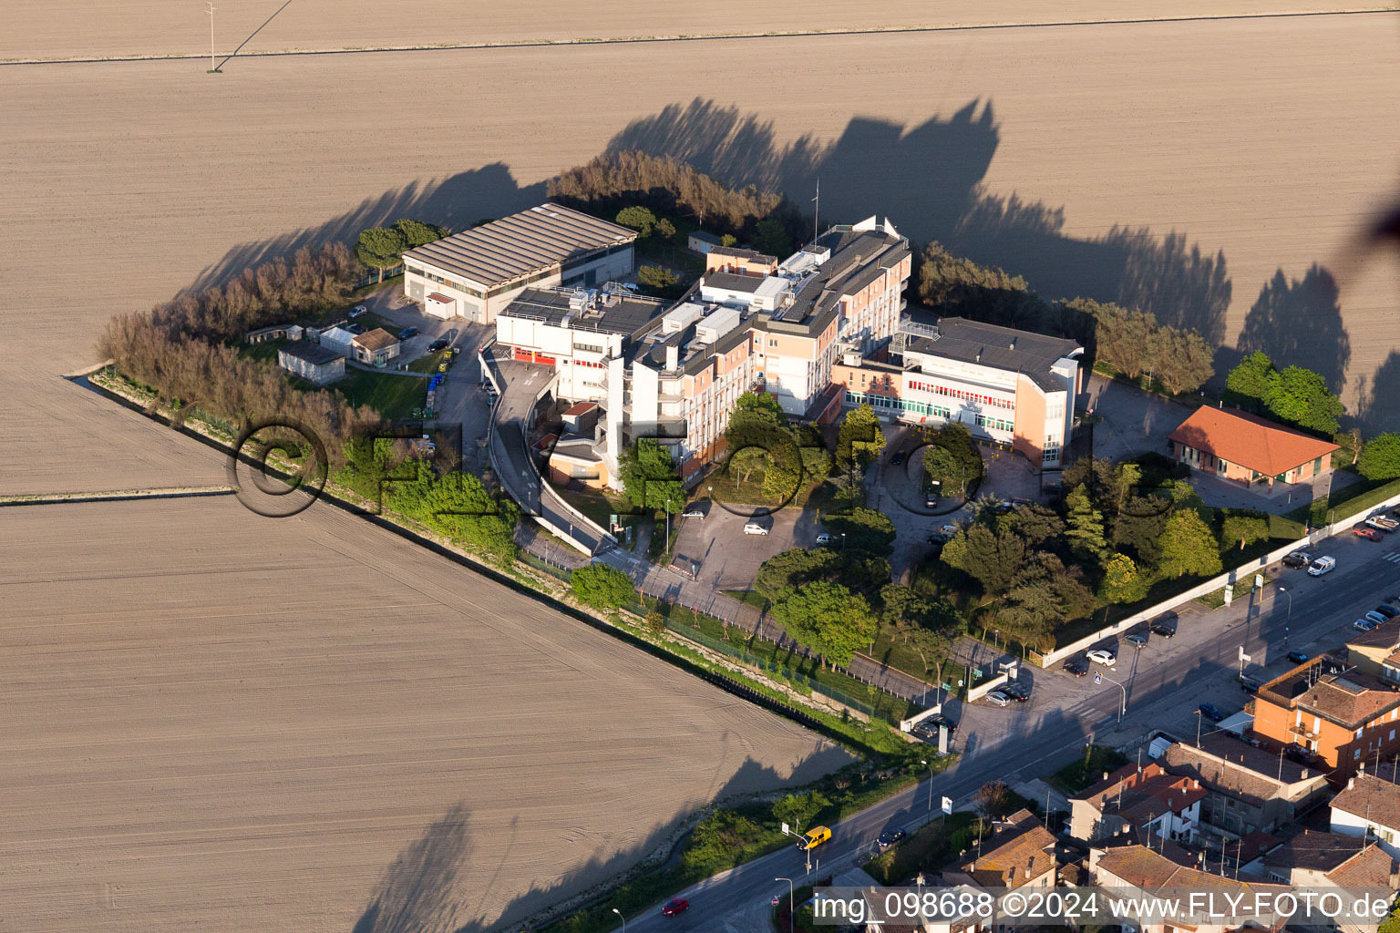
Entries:
[[183, 292], [155, 305], [150, 320], [172, 339], [228, 340], [287, 320], [290, 313], [346, 304], [361, 276], [344, 243], [302, 246], [288, 264], [274, 259], [224, 285]]

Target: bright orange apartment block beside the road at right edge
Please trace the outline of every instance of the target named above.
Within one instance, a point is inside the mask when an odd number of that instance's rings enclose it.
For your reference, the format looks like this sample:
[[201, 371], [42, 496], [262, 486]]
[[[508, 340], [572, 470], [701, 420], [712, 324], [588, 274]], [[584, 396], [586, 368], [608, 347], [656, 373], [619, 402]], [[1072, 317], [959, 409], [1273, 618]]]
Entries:
[[1298, 743], [1320, 755], [1343, 782], [1361, 762], [1400, 751], [1400, 692], [1393, 683], [1316, 657], [1275, 677], [1254, 697], [1254, 734], [1274, 747]]

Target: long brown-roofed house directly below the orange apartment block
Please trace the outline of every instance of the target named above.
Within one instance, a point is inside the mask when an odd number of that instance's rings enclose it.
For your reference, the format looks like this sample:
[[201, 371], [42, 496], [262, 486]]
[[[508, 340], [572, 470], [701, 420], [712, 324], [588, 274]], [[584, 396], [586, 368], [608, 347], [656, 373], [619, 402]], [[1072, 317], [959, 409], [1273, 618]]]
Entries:
[[1175, 743], [1162, 753], [1173, 775], [1198, 781], [1201, 829], [1212, 835], [1249, 838], [1274, 832], [1294, 821], [1327, 793], [1327, 775], [1242, 739], [1211, 734], [1198, 746]]

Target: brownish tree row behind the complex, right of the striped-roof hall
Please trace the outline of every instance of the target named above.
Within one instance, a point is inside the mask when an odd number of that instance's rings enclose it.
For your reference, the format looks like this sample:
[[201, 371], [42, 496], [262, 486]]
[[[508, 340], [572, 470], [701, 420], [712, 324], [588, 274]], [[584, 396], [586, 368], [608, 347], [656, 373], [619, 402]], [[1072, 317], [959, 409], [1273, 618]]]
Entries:
[[784, 235], [802, 225], [781, 194], [752, 185], [734, 189], [685, 162], [638, 151], [599, 155], [560, 173], [546, 190], [550, 200], [591, 213], [637, 206], [657, 214], [689, 214], [701, 227], [746, 239], [763, 220], [771, 218]]

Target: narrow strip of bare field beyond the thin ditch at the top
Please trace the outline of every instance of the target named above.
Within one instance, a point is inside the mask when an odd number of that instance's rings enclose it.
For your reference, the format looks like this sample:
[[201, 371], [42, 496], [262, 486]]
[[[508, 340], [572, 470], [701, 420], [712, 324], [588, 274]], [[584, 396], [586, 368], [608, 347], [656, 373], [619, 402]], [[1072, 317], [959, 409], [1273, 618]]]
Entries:
[[[20, 4], [0, 36], [0, 62], [150, 55], [209, 55], [206, 4], [174, 11], [165, 0], [53, 0]], [[346, 0], [223, 0], [216, 3], [218, 57], [293, 49], [416, 48], [501, 42], [567, 42], [638, 36], [946, 28], [1032, 22], [1099, 22], [1177, 17], [1261, 15], [1316, 10], [1376, 10], [1382, 4], [1306, 0], [1075, 0], [1068, 4], [948, 0], [714, 0], [703, 6], [638, 0], [416, 0], [412, 7]], [[279, 10], [279, 7], [283, 7]]]

